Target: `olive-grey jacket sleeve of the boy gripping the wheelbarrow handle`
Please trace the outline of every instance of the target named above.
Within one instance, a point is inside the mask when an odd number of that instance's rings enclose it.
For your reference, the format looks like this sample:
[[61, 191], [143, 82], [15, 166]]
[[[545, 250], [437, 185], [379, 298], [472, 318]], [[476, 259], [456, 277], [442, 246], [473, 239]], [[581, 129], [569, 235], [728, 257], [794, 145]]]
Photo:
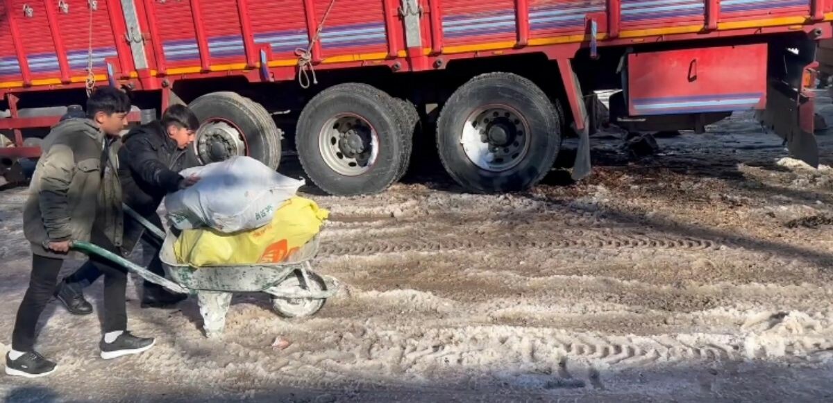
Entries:
[[55, 144], [43, 159], [41, 191], [38, 200], [43, 226], [50, 241], [68, 241], [72, 237], [67, 192], [75, 176], [72, 147]]

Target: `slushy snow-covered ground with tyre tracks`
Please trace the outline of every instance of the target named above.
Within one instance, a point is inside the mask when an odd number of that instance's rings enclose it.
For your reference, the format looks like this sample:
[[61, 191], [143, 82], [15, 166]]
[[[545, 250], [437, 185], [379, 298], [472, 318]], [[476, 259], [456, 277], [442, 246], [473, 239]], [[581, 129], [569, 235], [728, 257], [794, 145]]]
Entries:
[[[819, 140], [833, 164], [833, 140]], [[286, 320], [267, 296], [237, 296], [213, 341], [195, 301], [142, 310], [130, 287], [131, 329], [157, 346], [102, 361], [97, 316], [53, 303], [38, 348], [59, 370], [2, 376], [0, 396], [833, 400], [833, 171], [782, 160], [750, 114], [659, 142], [629, 161], [600, 137], [593, 177], [554, 172], [519, 195], [462, 194], [428, 172], [378, 196], [312, 196], [332, 211], [315, 266], [343, 286], [317, 316]], [[24, 200], [0, 192], [3, 352], [29, 273]], [[88, 292], [97, 304], [101, 287]]]

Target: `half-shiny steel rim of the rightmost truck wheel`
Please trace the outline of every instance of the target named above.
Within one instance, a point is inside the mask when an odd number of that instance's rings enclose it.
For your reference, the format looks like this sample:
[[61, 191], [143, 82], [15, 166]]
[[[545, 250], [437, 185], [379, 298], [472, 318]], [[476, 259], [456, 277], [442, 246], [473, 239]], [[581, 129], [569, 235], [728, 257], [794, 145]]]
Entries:
[[506, 172], [517, 167], [529, 153], [529, 123], [513, 107], [484, 105], [466, 117], [460, 145], [476, 167]]

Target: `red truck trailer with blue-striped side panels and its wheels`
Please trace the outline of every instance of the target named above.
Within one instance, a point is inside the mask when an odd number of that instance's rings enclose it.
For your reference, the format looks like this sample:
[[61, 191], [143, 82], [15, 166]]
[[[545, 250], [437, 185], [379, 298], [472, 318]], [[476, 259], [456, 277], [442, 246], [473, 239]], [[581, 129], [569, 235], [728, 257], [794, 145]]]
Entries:
[[[436, 147], [473, 192], [536, 185], [564, 137], [590, 172], [596, 90], [633, 131], [758, 111], [817, 165], [816, 45], [833, 0], [3, 0], [0, 161], [96, 85], [202, 121], [202, 163], [294, 148], [335, 195], [382, 192]], [[436, 128], [436, 131], [433, 130]], [[428, 130], [431, 129], [431, 130]], [[435, 133], [436, 135], [426, 134]], [[286, 136], [285, 136], [286, 135]]]

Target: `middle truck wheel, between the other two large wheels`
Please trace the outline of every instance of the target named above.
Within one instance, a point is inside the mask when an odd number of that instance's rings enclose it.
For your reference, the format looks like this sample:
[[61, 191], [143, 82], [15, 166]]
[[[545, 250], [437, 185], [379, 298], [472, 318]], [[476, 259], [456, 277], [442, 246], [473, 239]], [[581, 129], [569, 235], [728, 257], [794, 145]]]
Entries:
[[407, 159], [402, 118], [397, 102], [374, 87], [327, 88], [298, 117], [296, 146], [304, 172], [332, 195], [384, 191]]

